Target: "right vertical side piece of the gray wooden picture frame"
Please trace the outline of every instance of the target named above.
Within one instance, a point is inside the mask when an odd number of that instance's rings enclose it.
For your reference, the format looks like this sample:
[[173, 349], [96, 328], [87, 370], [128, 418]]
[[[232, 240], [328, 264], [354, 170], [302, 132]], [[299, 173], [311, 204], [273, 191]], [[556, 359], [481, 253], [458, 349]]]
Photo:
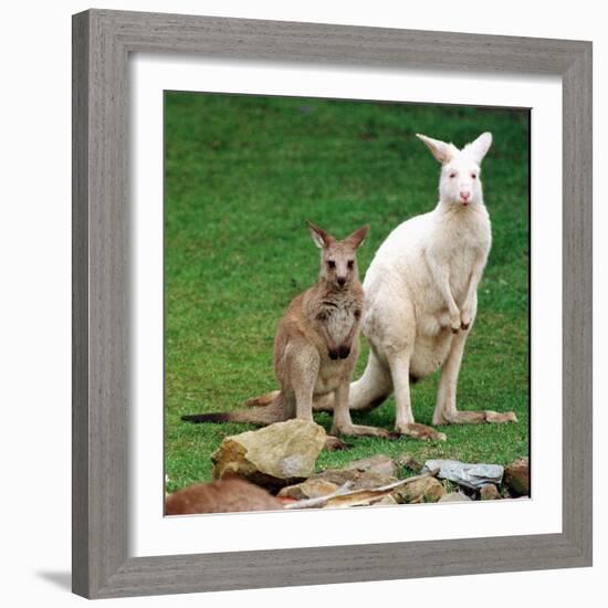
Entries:
[[591, 45], [563, 76], [564, 534], [593, 554]]

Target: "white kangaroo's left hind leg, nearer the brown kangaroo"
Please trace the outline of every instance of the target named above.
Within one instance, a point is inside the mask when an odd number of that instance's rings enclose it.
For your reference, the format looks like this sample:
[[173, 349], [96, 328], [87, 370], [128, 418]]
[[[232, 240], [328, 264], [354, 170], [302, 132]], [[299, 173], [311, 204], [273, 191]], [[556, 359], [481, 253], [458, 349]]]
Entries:
[[413, 421], [409, 390], [409, 364], [411, 353], [402, 350], [388, 356], [392, 387], [395, 389], [395, 430], [415, 439], [445, 441], [445, 433]]

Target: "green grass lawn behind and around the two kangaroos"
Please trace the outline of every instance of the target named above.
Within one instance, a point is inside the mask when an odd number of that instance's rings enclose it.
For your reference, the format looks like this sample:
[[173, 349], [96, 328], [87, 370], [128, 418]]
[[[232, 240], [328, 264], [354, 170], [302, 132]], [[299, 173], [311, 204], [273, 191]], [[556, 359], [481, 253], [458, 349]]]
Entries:
[[[505, 464], [528, 453], [528, 114], [524, 111], [192, 93], [166, 94], [166, 473], [211, 479], [210, 454], [247, 424], [190, 424], [275, 388], [274, 329], [316, 280], [304, 220], [342, 238], [363, 223], [363, 273], [386, 235], [437, 200], [439, 166], [415, 136], [463, 145], [491, 130], [483, 166], [493, 248], [467, 344], [459, 408], [514, 410], [507, 426], [441, 428], [448, 441], [349, 440], [319, 469], [382, 452]], [[358, 361], [359, 375], [367, 344]], [[438, 375], [412, 387], [429, 424]], [[391, 428], [390, 399], [357, 421]], [[327, 429], [331, 419], [317, 420]]]

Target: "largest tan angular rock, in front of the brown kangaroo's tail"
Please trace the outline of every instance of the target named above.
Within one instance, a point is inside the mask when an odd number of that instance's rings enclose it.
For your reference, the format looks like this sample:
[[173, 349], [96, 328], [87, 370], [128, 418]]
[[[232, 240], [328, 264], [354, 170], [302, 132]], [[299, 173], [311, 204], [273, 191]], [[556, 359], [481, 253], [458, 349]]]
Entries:
[[240, 476], [272, 491], [298, 483], [313, 474], [325, 438], [323, 427], [300, 419], [227, 437], [211, 455], [213, 479]]

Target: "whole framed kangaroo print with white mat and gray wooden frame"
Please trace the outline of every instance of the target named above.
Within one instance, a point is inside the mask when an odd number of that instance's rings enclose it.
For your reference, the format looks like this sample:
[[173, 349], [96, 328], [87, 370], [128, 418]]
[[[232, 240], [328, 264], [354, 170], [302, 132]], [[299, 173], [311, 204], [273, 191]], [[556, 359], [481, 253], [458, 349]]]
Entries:
[[74, 591], [590, 565], [590, 43], [73, 36]]

